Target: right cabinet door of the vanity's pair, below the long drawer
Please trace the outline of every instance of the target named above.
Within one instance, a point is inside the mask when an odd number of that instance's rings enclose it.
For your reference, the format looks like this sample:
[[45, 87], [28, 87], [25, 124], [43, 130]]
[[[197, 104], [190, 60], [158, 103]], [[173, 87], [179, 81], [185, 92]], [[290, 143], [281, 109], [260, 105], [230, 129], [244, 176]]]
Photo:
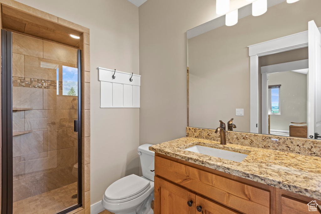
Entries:
[[203, 196], [196, 195], [196, 214], [235, 214], [239, 213], [238, 211], [232, 210], [224, 205], [212, 201]]

